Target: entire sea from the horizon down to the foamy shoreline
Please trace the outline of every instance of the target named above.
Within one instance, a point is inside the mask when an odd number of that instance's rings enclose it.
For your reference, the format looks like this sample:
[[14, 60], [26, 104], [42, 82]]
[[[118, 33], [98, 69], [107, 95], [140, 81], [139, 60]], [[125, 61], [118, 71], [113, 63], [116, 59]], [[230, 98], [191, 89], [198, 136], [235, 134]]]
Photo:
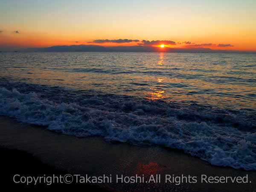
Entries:
[[256, 170], [256, 54], [1, 52], [0, 115]]

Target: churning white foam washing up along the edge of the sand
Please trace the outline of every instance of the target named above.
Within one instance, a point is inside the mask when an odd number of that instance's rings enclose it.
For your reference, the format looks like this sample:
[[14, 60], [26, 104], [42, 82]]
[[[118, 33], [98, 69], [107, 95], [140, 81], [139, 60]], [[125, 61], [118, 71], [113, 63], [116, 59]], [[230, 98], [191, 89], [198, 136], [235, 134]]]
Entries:
[[81, 103], [54, 103], [41, 99], [36, 93], [0, 88], [0, 114], [22, 122], [47, 125], [50, 130], [77, 137], [100, 136], [108, 141], [135, 145], [164, 145], [181, 149], [212, 165], [256, 170], [256, 133], [210, 121], [186, 121], [178, 118], [184, 113], [181, 109], [169, 108], [167, 115], [157, 115], [159, 109], [154, 105], [136, 101], [119, 102], [109, 98], [109, 102], [104, 103], [91, 98]]

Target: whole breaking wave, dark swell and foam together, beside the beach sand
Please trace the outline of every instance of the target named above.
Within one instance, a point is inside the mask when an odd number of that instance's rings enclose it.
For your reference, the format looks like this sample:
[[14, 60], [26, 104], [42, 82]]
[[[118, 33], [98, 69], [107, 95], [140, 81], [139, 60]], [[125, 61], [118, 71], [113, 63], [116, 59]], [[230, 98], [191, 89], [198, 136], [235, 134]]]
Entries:
[[33, 89], [37, 93], [21, 90], [0, 87], [1, 115], [76, 137], [99, 136], [134, 145], [163, 145], [212, 165], [256, 170], [255, 111], [247, 114], [243, 110], [227, 111], [196, 103], [80, 93], [72, 93], [71, 100], [67, 92], [58, 96], [63, 99], [55, 101], [43, 89]]

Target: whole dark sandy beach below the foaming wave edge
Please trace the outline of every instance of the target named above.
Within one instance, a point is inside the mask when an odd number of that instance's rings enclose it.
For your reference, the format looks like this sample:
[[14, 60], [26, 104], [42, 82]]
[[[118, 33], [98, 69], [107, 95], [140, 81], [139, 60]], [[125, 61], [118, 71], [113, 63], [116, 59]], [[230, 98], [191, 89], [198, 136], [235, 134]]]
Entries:
[[[1, 185], [12, 185], [20, 175], [81, 174], [90, 176], [161, 175], [160, 183], [113, 183], [98, 186], [120, 192], [253, 192], [256, 172], [211, 166], [183, 152], [159, 146], [132, 146], [107, 143], [99, 137], [78, 138], [53, 133], [44, 127], [27, 125], [0, 116], [0, 152], [3, 179]], [[17, 170], [17, 173], [15, 172]], [[197, 183], [165, 183], [165, 175], [191, 175]], [[251, 183], [201, 183], [201, 175], [241, 176], [248, 174]], [[16, 185], [17, 186], [17, 185]], [[18, 185], [18, 186], [21, 186]], [[42, 185], [41, 185], [42, 186]], [[61, 187], [69, 185], [62, 184]], [[76, 187], [80, 185], [71, 184]], [[47, 186], [52, 187], [52, 186]], [[96, 187], [82, 184], [84, 189]], [[102, 189], [102, 190], [104, 190]]]

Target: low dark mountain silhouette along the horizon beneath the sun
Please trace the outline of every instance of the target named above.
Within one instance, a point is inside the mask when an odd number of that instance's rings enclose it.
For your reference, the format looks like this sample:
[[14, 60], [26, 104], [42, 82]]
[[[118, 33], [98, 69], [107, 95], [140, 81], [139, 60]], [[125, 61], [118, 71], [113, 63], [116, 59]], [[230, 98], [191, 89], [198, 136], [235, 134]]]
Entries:
[[213, 50], [204, 47], [193, 48], [169, 48], [152, 46], [117, 46], [117, 47], [103, 47], [99, 45], [71, 45], [71, 46], [52, 46], [47, 48], [28, 48], [23, 51], [30, 52], [213, 52], [213, 53], [256, 53], [243, 52], [233, 50]]

